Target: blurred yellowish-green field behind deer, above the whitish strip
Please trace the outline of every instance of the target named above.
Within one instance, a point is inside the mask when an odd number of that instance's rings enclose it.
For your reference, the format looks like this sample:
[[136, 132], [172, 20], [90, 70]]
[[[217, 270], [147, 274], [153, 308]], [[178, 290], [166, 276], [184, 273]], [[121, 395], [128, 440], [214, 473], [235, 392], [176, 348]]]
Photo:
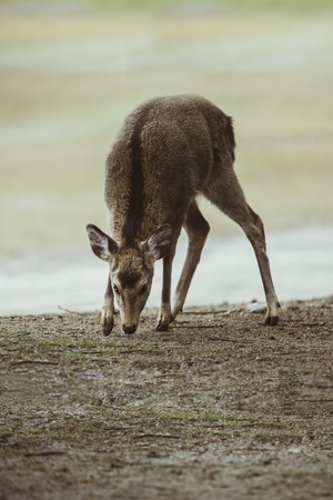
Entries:
[[[332, 0], [0, 1], [0, 257], [90, 252], [110, 144], [160, 94], [234, 118], [268, 232], [332, 223]], [[240, 231], [203, 210], [216, 236]]]

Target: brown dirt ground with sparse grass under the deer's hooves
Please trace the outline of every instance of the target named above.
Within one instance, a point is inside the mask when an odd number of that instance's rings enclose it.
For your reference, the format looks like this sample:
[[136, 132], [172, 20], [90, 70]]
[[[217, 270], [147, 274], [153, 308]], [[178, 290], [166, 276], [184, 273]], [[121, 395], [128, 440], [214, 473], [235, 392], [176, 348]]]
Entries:
[[0, 498], [333, 498], [333, 297], [0, 320]]

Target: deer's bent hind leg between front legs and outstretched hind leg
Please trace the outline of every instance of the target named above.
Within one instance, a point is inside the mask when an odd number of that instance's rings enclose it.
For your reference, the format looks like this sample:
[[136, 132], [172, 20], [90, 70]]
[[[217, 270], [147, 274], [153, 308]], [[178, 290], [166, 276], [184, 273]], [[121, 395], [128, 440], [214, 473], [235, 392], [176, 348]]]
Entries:
[[181, 277], [175, 289], [172, 319], [183, 309], [194, 271], [210, 231], [210, 226], [199, 210], [195, 201], [188, 209], [183, 227], [188, 233], [189, 247]]

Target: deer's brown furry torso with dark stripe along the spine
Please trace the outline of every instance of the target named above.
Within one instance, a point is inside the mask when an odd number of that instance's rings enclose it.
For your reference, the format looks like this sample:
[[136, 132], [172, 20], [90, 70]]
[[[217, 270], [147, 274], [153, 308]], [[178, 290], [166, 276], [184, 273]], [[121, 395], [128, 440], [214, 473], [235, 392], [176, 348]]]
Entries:
[[163, 223], [179, 224], [214, 162], [233, 148], [231, 119], [203, 98], [155, 98], [137, 108], [105, 164], [104, 194], [115, 240], [143, 241]]

